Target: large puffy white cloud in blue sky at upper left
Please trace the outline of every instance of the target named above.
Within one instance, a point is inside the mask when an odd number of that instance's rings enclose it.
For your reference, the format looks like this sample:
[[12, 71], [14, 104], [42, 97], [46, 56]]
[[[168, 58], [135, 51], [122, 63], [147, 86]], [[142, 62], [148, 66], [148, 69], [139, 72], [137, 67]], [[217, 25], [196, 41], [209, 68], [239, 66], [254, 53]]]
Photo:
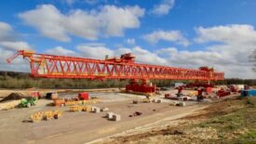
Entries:
[[70, 35], [88, 40], [99, 36], [122, 36], [126, 29], [140, 27], [144, 15], [141, 7], [104, 6], [100, 10], [74, 9], [62, 14], [52, 5], [41, 5], [20, 13], [19, 17], [43, 35], [62, 42], [71, 40]]

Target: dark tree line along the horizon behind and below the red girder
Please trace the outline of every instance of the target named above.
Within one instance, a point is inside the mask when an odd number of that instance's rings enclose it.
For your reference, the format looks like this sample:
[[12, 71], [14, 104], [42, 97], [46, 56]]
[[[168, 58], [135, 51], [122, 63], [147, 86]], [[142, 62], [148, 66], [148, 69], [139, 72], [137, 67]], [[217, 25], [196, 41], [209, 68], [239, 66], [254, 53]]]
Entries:
[[[176, 80], [152, 80], [151, 83], [163, 87], [170, 86], [174, 83], [192, 83], [193, 81], [176, 81]], [[128, 80], [88, 80], [88, 79], [45, 79], [32, 78], [29, 73], [24, 72], [0, 72], [0, 88], [110, 88], [125, 87]], [[225, 79], [223, 81], [213, 82], [216, 85], [245, 84], [256, 85], [254, 79]]]

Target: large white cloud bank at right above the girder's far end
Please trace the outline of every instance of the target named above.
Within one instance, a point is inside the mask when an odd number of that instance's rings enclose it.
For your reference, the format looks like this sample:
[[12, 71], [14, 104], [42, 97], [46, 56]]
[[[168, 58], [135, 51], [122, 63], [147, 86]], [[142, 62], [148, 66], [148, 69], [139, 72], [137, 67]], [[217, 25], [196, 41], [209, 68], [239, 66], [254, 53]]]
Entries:
[[[195, 29], [198, 37], [195, 42], [206, 43], [205, 50], [178, 50], [175, 47], [163, 48], [157, 54], [169, 61], [169, 65], [198, 68], [214, 66], [225, 77], [255, 78], [248, 56], [256, 48], [256, 31], [250, 25], [223, 25]], [[217, 42], [217, 44], [216, 44]]]

